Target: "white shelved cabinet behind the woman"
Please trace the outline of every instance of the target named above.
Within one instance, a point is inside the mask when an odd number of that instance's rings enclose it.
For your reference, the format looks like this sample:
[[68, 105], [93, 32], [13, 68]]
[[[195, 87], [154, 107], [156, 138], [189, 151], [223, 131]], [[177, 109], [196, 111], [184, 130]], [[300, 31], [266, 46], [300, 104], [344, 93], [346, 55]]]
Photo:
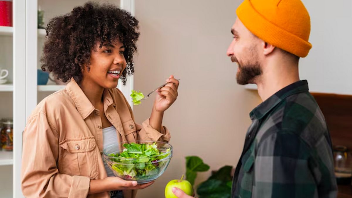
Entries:
[[[22, 132], [26, 118], [41, 99], [64, 88], [60, 85], [37, 86], [37, 68], [45, 42], [45, 30], [37, 29], [38, 7], [44, 11], [45, 25], [57, 15], [70, 12], [88, 0], [13, 0], [13, 27], [0, 26], [0, 67], [9, 70], [8, 82], [0, 85], [0, 119], [13, 118], [13, 151], [0, 151], [0, 197], [23, 197], [21, 193]], [[99, 2], [99, 1], [98, 1]], [[134, 14], [134, 0], [101, 0]], [[133, 76], [118, 88], [128, 101]], [[132, 105], [131, 105], [132, 106]]]

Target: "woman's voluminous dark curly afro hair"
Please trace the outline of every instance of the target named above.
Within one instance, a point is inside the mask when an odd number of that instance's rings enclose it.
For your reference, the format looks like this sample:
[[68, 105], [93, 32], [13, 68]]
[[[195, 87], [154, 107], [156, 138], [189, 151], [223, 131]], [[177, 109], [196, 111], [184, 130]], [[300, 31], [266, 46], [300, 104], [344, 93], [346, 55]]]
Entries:
[[95, 44], [112, 44], [119, 40], [125, 46], [124, 56], [127, 67], [121, 75], [126, 84], [126, 76], [133, 74], [133, 55], [137, 51], [139, 37], [138, 20], [125, 10], [110, 5], [88, 2], [75, 7], [71, 13], [49, 21], [46, 27], [46, 42], [40, 59], [42, 69], [67, 82], [74, 78], [80, 83], [84, 66], [90, 69], [90, 51]]

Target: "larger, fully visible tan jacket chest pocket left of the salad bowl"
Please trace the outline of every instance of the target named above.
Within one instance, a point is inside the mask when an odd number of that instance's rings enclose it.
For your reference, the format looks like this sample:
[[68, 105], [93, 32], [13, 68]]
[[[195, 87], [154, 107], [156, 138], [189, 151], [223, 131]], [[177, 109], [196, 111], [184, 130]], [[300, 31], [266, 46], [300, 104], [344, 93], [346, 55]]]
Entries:
[[95, 179], [99, 174], [98, 155], [95, 147], [96, 141], [93, 136], [62, 141], [60, 143], [60, 172]]

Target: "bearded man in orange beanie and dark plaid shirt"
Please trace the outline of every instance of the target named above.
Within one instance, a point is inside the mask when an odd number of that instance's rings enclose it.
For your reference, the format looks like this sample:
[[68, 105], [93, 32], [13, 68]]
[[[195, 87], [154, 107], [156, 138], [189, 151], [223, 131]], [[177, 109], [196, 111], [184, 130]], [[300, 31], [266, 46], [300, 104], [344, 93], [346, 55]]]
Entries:
[[250, 113], [231, 197], [336, 197], [325, 118], [298, 76], [312, 47], [306, 8], [300, 0], [245, 0], [236, 12], [227, 55], [238, 64], [237, 82], [257, 84], [263, 103]]

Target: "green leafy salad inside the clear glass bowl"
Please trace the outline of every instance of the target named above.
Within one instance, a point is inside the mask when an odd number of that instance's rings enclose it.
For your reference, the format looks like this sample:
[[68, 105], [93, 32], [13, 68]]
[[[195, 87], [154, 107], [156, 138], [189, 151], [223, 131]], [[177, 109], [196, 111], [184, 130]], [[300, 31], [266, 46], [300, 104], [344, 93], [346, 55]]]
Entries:
[[[110, 154], [111, 168], [127, 180], [144, 180], [159, 174], [160, 169], [170, 157], [170, 148], [160, 151], [156, 142], [153, 144], [130, 143], [119, 154]], [[114, 158], [116, 157], [116, 158]], [[165, 160], [163, 160], [165, 159]]]

